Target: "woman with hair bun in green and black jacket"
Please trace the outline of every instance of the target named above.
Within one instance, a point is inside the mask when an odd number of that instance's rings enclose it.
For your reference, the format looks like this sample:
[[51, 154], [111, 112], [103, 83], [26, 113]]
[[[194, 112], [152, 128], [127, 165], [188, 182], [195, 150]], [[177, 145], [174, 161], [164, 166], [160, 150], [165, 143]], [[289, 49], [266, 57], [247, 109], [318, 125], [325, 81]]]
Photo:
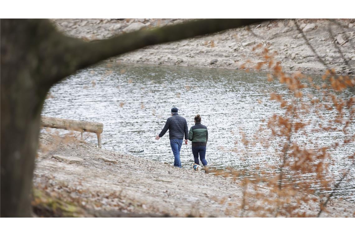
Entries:
[[204, 166], [205, 172], [208, 174], [207, 161], [205, 159], [206, 155], [206, 144], [208, 141], [208, 130], [207, 127], [201, 124], [201, 116], [195, 116], [195, 125], [190, 128], [189, 140], [192, 142], [192, 153], [195, 163], [200, 165], [198, 161], [198, 155], [200, 154], [200, 160]]

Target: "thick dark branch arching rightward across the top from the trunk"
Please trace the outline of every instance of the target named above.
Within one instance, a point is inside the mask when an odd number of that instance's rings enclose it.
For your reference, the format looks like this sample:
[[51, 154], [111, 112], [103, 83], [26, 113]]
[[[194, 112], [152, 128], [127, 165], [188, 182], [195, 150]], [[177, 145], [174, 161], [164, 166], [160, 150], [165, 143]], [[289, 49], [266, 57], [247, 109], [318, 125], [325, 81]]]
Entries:
[[[65, 76], [74, 73], [78, 69], [149, 45], [192, 38], [198, 35], [215, 33], [262, 21], [264, 21], [264, 19], [194, 20], [151, 30], [138, 30], [132, 33], [120, 34], [110, 39], [94, 42], [78, 43], [77, 40], [66, 37], [68, 40], [67, 45], [71, 48], [70, 54], [67, 54], [66, 58], [70, 58], [70, 60], [62, 60], [62, 62], [65, 62], [62, 64], [63, 69], [59, 70], [58, 74], [53, 77], [53, 82], [60, 81]], [[58, 39], [58, 35], [55, 36], [55, 38]]]

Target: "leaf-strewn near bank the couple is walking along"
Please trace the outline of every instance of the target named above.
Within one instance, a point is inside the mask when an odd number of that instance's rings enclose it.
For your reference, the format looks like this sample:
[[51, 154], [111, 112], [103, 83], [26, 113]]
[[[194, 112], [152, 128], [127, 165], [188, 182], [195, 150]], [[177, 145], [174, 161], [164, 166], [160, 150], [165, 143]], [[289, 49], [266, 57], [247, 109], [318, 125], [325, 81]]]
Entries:
[[[234, 179], [180, 169], [171, 164], [96, 148], [71, 136], [41, 134], [34, 187], [53, 198], [98, 211], [169, 214], [173, 217], [274, 216], [272, 211], [242, 211], [243, 188]], [[53, 157], [75, 156], [75, 161]], [[171, 161], [173, 163], [173, 159]], [[262, 186], [247, 190], [267, 193]], [[247, 198], [255, 206], [260, 199]], [[331, 200], [323, 217], [354, 217], [355, 203]], [[302, 205], [315, 216], [319, 202]], [[287, 216], [287, 213], [285, 213]]]

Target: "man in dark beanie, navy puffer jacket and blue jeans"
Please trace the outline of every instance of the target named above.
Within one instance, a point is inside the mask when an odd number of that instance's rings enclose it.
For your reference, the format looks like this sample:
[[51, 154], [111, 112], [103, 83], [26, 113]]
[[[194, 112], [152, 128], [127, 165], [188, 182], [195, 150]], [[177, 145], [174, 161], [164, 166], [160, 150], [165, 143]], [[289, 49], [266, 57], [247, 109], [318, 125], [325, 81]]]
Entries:
[[163, 135], [169, 129], [169, 139], [171, 150], [174, 153], [174, 166], [181, 168], [180, 161], [180, 149], [182, 146], [182, 140], [184, 139], [185, 134], [185, 143], [187, 143], [187, 139], [189, 138], [189, 129], [187, 128], [186, 119], [178, 114], [178, 108], [171, 108], [171, 117], [166, 120], [165, 126], [160, 132], [156, 140], [163, 137]]

